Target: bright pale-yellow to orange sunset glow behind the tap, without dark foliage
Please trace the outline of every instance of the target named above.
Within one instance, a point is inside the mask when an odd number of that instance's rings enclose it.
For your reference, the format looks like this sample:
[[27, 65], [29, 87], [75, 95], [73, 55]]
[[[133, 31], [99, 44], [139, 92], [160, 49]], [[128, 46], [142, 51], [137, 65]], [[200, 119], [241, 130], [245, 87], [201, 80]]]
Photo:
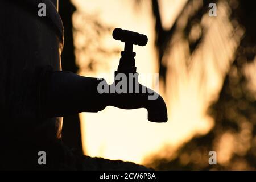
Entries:
[[[170, 28], [186, 1], [162, 0], [160, 2], [163, 25]], [[154, 46], [154, 19], [149, 1], [143, 1], [141, 5], [135, 5], [128, 0], [73, 0], [73, 3], [80, 12], [97, 14], [104, 24], [147, 35], [146, 46], [134, 46], [134, 52], [137, 53], [135, 57], [137, 72], [139, 74], [158, 72], [158, 55]], [[205, 16], [202, 20], [201, 24], [208, 28], [209, 36], [206, 36], [207, 38], [193, 55], [189, 55], [187, 40], [182, 39], [179, 32], [175, 32], [171, 51], [164, 58], [168, 67], [166, 92], [162, 82], [159, 88], [168, 107], [168, 122], [147, 121], [146, 109], [122, 110], [108, 106], [99, 113], [81, 113], [82, 142], [86, 155], [144, 164], [151, 155], [171, 155], [170, 151], [163, 150], [165, 146], [175, 150], [193, 135], [207, 133], [213, 127], [213, 119], [206, 114], [206, 110], [209, 104], [217, 99], [223, 76], [232, 61], [241, 37], [229, 39], [233, 27], [227, 20], [228, 9], [221, 4], [219, 9], [218, 18], [210, 19], [209, 16]], [[73, 16], [75, 26], [79, 24], [78, 16], [77, 14]], [[225, 28], [222, 28], [224, 26]], [[214, 29], [216, 27], [218, 29]], [[238, 35], [242, 35], [242, 32]], [[193, 38], [196, 35], [191, 36]], [[74, 37], [76, 47], [83, 43], [84, 39], [81, 36]], [[111, 34], [102, 39], [102, 45], [119, 50], [124, 46], [122, 42], [114, 40]], [[216, 59], [216, 54], [221, 56]], [[104, 63], [103, 65], [107, 66], [99, 65], [96, 70], [90, 72], [83, 69], [86, 65], [86, 56], [94, 55], [76, 54], [80, 74], [93, 77], [109, 75], [104, 78], [109, 84], [112, 83], [120, 55], [98, 58], [101, 59], [102, 64]], [[193, 60], [189, 69], [186, 66], [188, 60]], [[204, 80], [201, 79], [202, 75]], [[147, 85], [140, 78], [139, 81]], [[228, 137], [227, 135], [226, 138]]]

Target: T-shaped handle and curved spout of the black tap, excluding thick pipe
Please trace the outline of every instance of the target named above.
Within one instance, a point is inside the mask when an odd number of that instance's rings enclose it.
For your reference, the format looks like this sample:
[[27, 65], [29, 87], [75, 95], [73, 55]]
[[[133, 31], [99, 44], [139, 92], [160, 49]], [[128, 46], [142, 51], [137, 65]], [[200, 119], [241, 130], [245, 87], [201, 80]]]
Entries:
[[[153, 90], [139, 84], [138, 73], [135, 67], [135, 55], [133, 45], [146, 46], [147, 36], [137, 32], [115, 28], [113, 38], [125, 42], [125, 49], [121, 52], [121, 59], [117, 71], [114, 73], [114, 82], [110, 89], [120, 82], [118, 75], [126, 75], [126, 93], [108, 94], [108, 104], [121, 109], [146, 108], [148, 111], [148, 121], [166, 122], [167, 109], [163, 98]], [[128, 91], [130, 92], [128, 93]], [[147, 92], [146, 92], [147, 91]]]

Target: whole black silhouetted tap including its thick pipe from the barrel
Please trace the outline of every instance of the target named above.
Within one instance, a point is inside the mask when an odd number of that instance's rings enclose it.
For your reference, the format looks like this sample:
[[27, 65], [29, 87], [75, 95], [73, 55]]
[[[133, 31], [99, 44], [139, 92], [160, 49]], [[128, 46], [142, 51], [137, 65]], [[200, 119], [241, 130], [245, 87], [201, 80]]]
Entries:
[[114, 82], [108, 85], [102, 78], [79, 76], [67, 71], [41, 72], [40, 116], [63, 117], [80, 112], [97, 112], [106, 106], [121, 109], [147, 109], [148, 121], [167, 122], [167, 109], [163, 98], [153, 90], [139, 84], [135, 67], [133, 45], [145, 46], [147, 36], [115, 28], [113, 38], [125, 42]]

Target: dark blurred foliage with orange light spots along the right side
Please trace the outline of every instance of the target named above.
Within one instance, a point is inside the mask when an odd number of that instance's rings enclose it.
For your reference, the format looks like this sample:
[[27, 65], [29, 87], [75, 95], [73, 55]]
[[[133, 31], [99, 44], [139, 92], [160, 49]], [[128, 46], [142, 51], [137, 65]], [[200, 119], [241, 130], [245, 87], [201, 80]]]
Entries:
[[[218, 1], [203, 1], [204, 6], [189, 18], [183, 32], [185, 36], [187, 35], [187, 39], [193, 22], [201, 20], [203, 14], [209, 10], [208, 5], [211, 2], [218, 3]], [[256, 94], [255, 90], [250, 89], [252, 83], [249, 82], [250, 79], [245, 71], [247, 65], [256, 61], [256, 11], [254, 10], [256, 3], [237, 0], [226, 0], [226, 2], [232, 10], [230, 21], [238, 22], [245, 29], [245, 35], [236, 51], [235, 60], [224, 77], [219, 98], [208, 110], [208, 114], [215, 120], [215, 125], [209, 133], [197, 135], [184, 143], [171, 158], [154, 159], [149, 166], [155, 169], [256, 169]], [[162, 30], [157, 0], [152, 0], [152, 9], [158, 37], [156, 47], [161, 56], [168, 49], [166, 41], [171, 40], [172, 32], [171, 29]], [[200, 44], [200, 40], [200, 36], [196, 40], [189, 40], [191, 52]], [[159, 57], [160, 66], [161, 60], [162, 58]], [[217, 152], [217, 165], [209, 165], [209, 151]]]

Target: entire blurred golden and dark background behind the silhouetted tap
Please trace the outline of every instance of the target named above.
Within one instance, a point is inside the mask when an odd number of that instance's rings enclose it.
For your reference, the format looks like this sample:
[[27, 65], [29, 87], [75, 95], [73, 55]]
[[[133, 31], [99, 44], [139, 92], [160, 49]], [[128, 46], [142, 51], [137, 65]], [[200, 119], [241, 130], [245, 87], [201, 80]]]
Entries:
[[[217, 16], [210, 17], [209, 3]], [[256, 4], [238, 0], [59, 1], [63, 69], [113, 81], [119, 27], [148, 36], [137, 72], [159, 73], [167, 123], [107, 107], [64, 118], [63, 142], [85, 155], [160, 170], [256, 168]], [[139, 81], [149, 87], [145, 80]], [[85, 103], [89, 104], [89, 103]], [[209, 165], [209, 151], [217, 165]]]

